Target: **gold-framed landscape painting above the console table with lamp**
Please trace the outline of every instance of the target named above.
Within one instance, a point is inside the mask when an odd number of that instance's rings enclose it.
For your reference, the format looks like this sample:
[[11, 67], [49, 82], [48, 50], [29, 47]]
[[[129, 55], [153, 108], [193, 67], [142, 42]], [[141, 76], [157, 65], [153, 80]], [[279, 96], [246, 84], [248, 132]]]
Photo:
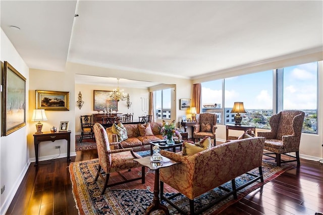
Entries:
[[36, 90], [36, 109], [69, 111], [70, 92]]

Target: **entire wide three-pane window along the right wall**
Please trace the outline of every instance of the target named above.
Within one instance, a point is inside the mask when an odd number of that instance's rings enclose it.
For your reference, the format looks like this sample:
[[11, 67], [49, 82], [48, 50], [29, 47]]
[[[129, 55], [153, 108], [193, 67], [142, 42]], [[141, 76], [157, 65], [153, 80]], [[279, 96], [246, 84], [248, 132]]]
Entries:
[[305, 112], [303, 132], [317, 133], [317, 74], [318, 62], [313, 62], [204, 82], [201, 111], [221, 112], [219, 124], [234, 124], [233, 104], [242, 101], [247, 113], [240, 113], [241, 124], [270, 129], [273, 114], [300, 110]]

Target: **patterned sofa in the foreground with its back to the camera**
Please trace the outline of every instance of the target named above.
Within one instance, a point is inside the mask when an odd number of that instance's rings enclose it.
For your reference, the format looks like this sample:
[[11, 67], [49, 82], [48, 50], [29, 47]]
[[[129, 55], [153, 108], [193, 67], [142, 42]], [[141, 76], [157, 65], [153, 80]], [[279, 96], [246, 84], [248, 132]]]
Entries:
[[[263, 182], [261, 165], [264, 140], [265, 138], [263, 137], [232, 140], [192, 155], [182, 155], [181, 152], [174, 153], [161, 150], [161, 155], [181, 162], [181, 164], [160, 169], [161, 199], [179, 209], [170, 200], [172, 197], [167, 198], [164, 196], [163, 189], [164, 183], [166, 183], [189, 198], [190, 214], [200, 213], [205, 208], [200, 211], [194, 211], [194, 198], [230, 180], [233, 189], [223, 198], [211, 202], [211, 205], [218, 203], [231, 194], [237, 198], [237, 191], [241, 189], [241, 186], [236, 187], [234, 181], [236, 177], [254, 168], [259, 168], [259, 176], [255, 176], [255, 179], [250, 183], [258, 179]], [[185, 211], [181, 212], [187, 213]]]

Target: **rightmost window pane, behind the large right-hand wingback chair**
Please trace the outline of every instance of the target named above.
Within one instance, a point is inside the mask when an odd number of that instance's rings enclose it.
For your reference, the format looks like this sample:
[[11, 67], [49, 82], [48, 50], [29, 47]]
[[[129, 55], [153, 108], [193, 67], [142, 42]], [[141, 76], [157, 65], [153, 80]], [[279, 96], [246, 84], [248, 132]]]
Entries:
[[278, 110], [300, 110], [305, 113], [303, 131], [317, 133], [317, 62], [278, 69]]

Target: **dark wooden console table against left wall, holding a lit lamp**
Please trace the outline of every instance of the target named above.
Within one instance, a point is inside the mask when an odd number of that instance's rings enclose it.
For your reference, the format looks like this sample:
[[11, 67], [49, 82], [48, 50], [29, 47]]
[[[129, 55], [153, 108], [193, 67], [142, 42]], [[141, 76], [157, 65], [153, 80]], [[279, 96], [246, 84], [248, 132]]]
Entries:
[[43, 141], [51, 141], [54, 142], [55, 140], [67, 140], [67, 162], [71, 161], [70, 158], [70, 149], [71, 149], [71, 131], [66, 132], [44, 132], [41, 134], [34, 134], [34, 145], [35, 145], [35, 156], [36, 156], [36, 163], [34, 166], [38, 165], [38, 151], [39, 151], [39, 143]]

